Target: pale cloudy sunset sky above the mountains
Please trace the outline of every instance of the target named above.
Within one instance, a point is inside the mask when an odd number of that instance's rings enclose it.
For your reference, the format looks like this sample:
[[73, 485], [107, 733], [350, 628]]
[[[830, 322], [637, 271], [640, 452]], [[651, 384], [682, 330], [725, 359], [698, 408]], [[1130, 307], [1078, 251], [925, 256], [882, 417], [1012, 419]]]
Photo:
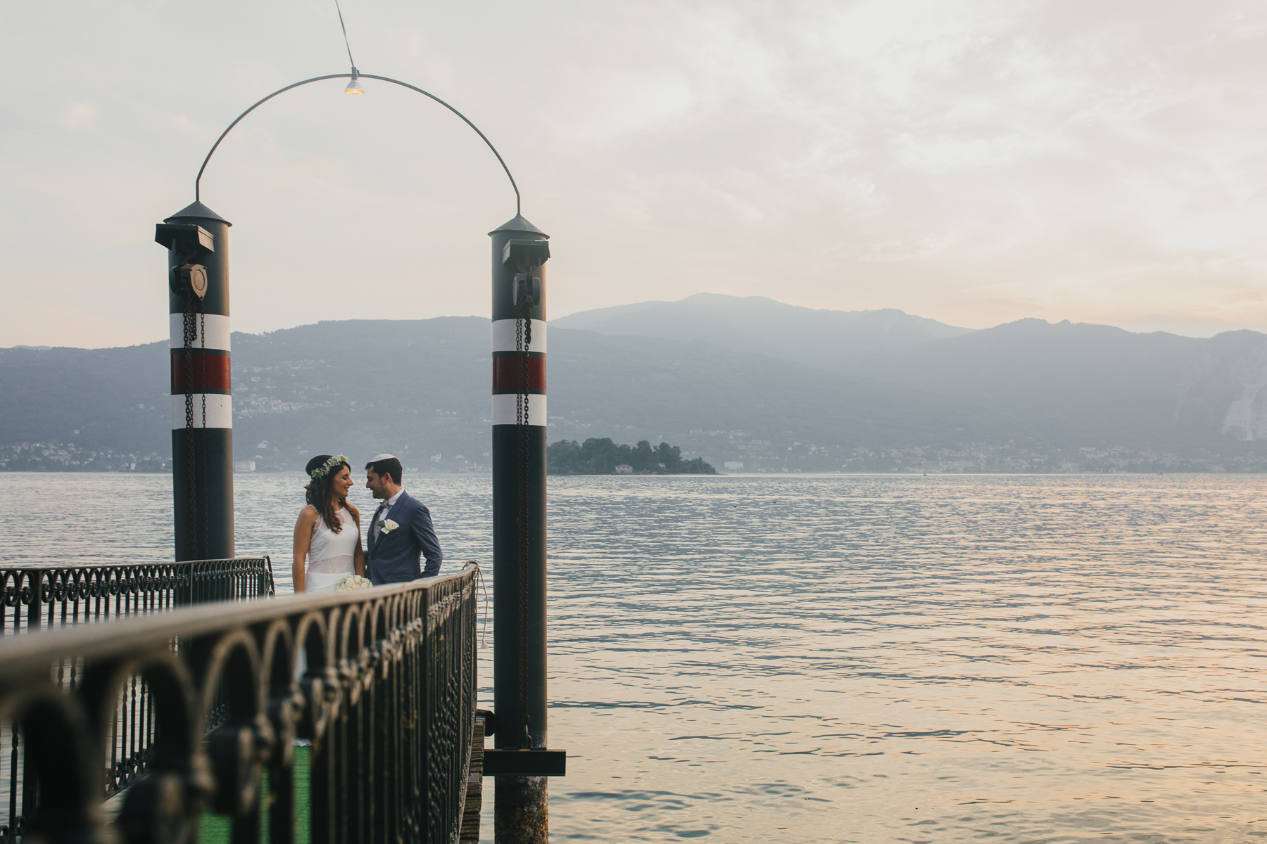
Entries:
[[[1267, 330], [1267, 5], [346, 0], [357, 67], [451, 102], [551, 235], [549, 314], [696, 292], [954, 325]], [[167, 334], [153, 224], [333, 0], [0, 3], [0, 347]], [[203, 201], [236, 330], [489, 313], [479, 137], [365, 80], [260, 106]]]

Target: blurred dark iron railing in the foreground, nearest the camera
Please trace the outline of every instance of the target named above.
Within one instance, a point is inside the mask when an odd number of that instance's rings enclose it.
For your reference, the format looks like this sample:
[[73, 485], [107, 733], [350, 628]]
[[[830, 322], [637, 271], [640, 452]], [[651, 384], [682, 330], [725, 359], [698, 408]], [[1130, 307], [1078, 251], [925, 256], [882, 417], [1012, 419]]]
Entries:
[[[227, 816], [234, 844], [294, 844], [296, 829], [312, 844], [456, 841], [475, 719], [475, 572], [10, 639], [0, 840], [108, 840], [100, 805], [122, 728], [151, 739], [118, 797], [113, 831], [128, 844], [186, 844], [204, 809]], [[138, 683], [147, 707], [132, 704]], [[296, 753], [295, 738], [310, 748]]]

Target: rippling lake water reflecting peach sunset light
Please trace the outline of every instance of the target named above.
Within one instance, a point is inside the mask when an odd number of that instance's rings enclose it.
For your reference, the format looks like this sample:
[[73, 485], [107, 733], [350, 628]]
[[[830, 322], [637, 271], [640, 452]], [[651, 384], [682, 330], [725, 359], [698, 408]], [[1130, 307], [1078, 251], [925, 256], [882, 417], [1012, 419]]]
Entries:
[[[170, 477], [0, 478], [9, 562], [170, 555]], [[407, 481], [487, 563], [488, 476]], [[302, 477], [236, 485], [285, 588]], [[549, 488], [555, 840], [1267, 836], [1267, 478]]]

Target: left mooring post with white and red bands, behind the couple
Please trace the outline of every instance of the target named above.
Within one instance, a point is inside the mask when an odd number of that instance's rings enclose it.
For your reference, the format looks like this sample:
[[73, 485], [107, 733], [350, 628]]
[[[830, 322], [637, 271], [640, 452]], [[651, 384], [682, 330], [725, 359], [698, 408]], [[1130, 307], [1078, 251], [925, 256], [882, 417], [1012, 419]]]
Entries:
[[167, 247], [177, 561], [233, 557], [229, 225], [195, 201], [155, 232]]

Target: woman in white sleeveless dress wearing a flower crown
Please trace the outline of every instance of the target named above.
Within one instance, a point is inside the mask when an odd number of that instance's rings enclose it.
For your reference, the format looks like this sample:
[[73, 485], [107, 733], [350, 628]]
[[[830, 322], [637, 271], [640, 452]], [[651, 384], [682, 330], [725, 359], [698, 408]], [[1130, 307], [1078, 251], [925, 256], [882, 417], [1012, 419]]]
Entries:
[[352, 467], [342, 454], [318, 454], [305, 469], [312, 482], [304, 487], [308, 506], [295, 520], [290, 573], [295, 592], [329, 592], [348, 574], [365, 576], [361, 512], [347, 500]]

